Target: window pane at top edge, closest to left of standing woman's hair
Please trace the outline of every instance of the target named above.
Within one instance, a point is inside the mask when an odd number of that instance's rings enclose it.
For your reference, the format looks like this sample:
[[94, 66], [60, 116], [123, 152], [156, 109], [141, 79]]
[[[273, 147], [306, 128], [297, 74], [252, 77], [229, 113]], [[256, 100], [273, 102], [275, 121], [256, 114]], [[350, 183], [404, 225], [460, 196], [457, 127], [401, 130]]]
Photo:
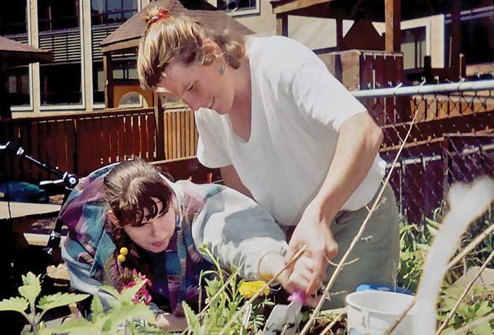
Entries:
[[91, 0], [92, 25], [123, 23], [137, 13], [137, 0]]

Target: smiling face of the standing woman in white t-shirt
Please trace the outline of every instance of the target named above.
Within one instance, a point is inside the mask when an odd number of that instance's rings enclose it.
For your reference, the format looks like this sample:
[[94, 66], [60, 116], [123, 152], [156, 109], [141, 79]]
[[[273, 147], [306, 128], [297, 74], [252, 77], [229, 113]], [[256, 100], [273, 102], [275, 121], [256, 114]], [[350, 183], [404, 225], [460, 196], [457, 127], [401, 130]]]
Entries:
[[[225, 67], [223, 74], [222, 66]], [[209, 65], [172, 61], [158, 87], [164, 89], [165, 95], [182, 99], [193, 111], [204, 107], [218, 114], [227, 114], [234, 101], [233, 84], [231, 68], [223, 59], [215, 58]]]

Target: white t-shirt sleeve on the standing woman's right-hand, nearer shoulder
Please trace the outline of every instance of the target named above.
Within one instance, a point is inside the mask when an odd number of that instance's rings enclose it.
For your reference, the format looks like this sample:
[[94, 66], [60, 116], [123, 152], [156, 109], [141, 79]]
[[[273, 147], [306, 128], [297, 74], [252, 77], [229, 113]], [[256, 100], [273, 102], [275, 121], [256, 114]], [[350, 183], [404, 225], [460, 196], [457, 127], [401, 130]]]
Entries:
[[296, 71], [291, 93], [301, 113], [336, 131], [351, 116], [367, 111], [320, 59], [306, 61]]

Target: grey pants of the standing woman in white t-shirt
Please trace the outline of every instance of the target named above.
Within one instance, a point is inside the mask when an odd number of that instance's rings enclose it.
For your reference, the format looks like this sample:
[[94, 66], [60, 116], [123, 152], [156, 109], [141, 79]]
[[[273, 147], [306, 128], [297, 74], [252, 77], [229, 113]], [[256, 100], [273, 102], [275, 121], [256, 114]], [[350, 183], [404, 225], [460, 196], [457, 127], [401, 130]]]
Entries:
[[[374, 201], [375, 197], [369, 202], [369, 209]], [[331, 231], [339, 245], [339, 253], [332, 260], [333, 263], [338, 264], [347, 252], [367, 214], [366, 207], [356, 211], [342, 211], [332, 221]], [[346, 263], [348, 262], [351, 264], [345, 265], [339, 272], [330, 291], [330, 300], [326, 301], [323, 309], [344, 307], [345, 297], [354, 292], [360, 284], [396, 282], [399, 262], [399, 217], [390, 185], [386, 186], [378, 209], [370, 217], [361, 239], [351, 250]], [[335, 269], [332, 264], [327, 268], [327, 281]]]

